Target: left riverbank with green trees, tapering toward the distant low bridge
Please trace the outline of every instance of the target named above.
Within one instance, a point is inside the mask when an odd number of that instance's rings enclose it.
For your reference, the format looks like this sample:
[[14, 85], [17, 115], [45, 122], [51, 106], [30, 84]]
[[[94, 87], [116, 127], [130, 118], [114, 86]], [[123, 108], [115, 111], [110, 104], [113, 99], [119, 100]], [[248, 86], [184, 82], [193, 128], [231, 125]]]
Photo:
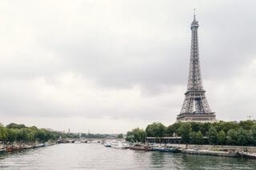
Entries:
[[[15, 152], [28, 148], [39, 148], [57, 144], [59, 139], [114, 137], [107, 134], [57, 132], [47, 128], [27, 127], [23, 124], [0, 124], [0, 153]], [[123, 137], [122, 134], [116, 137]]]

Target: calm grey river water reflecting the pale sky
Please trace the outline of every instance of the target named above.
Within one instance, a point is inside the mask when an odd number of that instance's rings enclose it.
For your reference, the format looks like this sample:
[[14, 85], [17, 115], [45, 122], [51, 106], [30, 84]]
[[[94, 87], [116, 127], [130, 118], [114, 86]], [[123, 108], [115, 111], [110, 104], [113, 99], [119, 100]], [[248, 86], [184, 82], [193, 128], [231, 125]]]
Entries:
[[256, 160], [56, 144], [2, 154], [0, 169], [256, 169]]

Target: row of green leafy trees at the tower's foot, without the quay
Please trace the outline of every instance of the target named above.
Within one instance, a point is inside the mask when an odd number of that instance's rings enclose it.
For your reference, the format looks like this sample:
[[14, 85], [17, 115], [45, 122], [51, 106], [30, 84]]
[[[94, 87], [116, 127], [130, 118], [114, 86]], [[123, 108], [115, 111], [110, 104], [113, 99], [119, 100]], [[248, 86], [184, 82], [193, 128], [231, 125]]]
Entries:
[[145, 130], [134, 128], [126, 133], [126, 140], [131, 142], [145, 143], [147, 138], [155, 138], [161, 143], [165, 137], [180, 138], [176, 142], [181, 144], [256, 146], [256, 121], [175, 122], [167, 127], [154, 122]]

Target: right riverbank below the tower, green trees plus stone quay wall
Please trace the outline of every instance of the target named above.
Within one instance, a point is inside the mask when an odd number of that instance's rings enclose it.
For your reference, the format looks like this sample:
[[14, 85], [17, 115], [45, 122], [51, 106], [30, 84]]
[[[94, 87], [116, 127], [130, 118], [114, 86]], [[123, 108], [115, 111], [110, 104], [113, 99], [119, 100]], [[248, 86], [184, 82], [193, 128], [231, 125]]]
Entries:
[[146, 129], [126, 133], [130, 142], [169, 144], [180, 152], [214, 156], [256, 158], [256, 121], [218, 121], [214, 123], [175, 122], [165, 126], [154, 122]]

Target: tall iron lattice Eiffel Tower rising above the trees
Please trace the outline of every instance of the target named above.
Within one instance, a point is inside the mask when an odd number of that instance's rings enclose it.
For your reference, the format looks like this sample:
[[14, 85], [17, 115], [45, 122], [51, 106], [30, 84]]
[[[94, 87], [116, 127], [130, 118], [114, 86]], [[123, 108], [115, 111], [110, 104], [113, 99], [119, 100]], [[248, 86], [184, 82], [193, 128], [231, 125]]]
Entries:
[[202, 77], [198, 53], [198, 22], [195, 19], [190, 29], [192, 31], [190, 49], [190, 73], [185, 93], [185, 100], [181, 113], [178, 114], [177, 121], [216, 121], [215, 114], [210, 110], [206, 100], [206, 90], [202, 87]]

